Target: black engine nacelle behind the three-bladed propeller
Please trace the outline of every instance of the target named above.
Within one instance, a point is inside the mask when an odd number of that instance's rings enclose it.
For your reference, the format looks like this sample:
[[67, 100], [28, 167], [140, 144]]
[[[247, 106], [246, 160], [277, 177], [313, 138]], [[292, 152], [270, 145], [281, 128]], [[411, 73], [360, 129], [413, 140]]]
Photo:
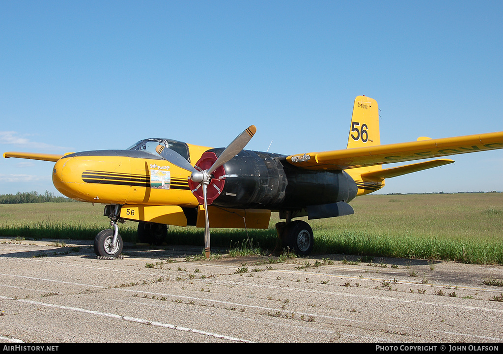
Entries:
[[[212, 149], [217, 157], [223, 149]], [[235, 208], [301, 209], [349, 202], [355, 181], [344, 171], [309, 171], [278, 154], [243, 150], [223, 165], [225, 184], [214, 205]]]

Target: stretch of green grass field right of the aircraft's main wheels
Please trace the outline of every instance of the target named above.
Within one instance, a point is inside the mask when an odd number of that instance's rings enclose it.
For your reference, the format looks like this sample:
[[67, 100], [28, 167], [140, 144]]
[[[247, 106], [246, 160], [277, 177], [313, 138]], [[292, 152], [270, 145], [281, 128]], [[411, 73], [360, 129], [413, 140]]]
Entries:
[[368, 195], [352, 204], [355, 215], [311, 223], [315, 252], [503, 264], [503, 193]]

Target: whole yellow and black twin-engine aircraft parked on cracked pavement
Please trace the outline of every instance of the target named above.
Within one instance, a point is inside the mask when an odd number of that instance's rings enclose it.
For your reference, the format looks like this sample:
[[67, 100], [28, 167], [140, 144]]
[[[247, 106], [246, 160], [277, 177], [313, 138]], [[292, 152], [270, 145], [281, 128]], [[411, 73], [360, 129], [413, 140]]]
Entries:
[[380, 145], [377, 102], [365, 96], [355, 99], [345, 150], [290, 156], [243, 150], [255, 132], [250, 125], [225, 149], [150, 138], [127, 150], [7, 152], [4, 157], [56, 162], [52, 180], [62, 194], [106, 204], [104, 214], [113, 229], [96, 236], [98, 256], [121, 253], [117, 224], [131, 220], [139, 222], [139, 240], [154, 244], [162, 242], [169, 225], [204, 227], [209, 258], [210, 226], [266, 229], [271, 211], [279, 211], [285, 220], [276, 224], [283, 247], [308, 255], [314, 244], [312, 229], [294, 218], [354, 214], [348, 203], [382, 188], [385, 178], [454, 161], [382, 165], [503, 148], [503, 132]]

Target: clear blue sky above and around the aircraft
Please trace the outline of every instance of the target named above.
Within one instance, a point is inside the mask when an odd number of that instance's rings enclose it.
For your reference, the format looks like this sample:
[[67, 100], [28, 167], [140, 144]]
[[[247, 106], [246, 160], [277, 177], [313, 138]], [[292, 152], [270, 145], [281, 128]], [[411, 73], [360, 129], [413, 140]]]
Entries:
[[[381, 144], [503, 130], [503, 3], [2, 1], [0, 150], [125, 149], [145, 137], [346, 148], [353, 101]], [[272, 143], [271, 143], [272, 141]], [[382, 193], [503, 190], [503, 150]], [[0, 194], [59, 194], [52, 163], [0, 159]]]

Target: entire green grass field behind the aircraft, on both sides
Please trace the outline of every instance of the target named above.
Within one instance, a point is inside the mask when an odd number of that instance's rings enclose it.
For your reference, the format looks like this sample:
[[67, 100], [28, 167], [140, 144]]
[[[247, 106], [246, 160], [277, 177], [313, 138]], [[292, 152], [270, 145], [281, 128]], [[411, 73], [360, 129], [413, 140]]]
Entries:
[[[503, 193], [366, 195], [351, 202], [355, 215], [312, 220], [313, 254], [455, 260], [503, 264]], [[276, 245], [273, 214], [267, 230], [212, 229], [212, 246]], [[211, 224], [211, 220], [210, 220]], [[102, 205], [38, 203], [0, 205], [0, 236], [94, 239], [109, 228]], [[137, 224], [121, 224], [124, 241], [135, 241]], [[167, 243], [201, 245], [203, 230], [170, 227]]]

